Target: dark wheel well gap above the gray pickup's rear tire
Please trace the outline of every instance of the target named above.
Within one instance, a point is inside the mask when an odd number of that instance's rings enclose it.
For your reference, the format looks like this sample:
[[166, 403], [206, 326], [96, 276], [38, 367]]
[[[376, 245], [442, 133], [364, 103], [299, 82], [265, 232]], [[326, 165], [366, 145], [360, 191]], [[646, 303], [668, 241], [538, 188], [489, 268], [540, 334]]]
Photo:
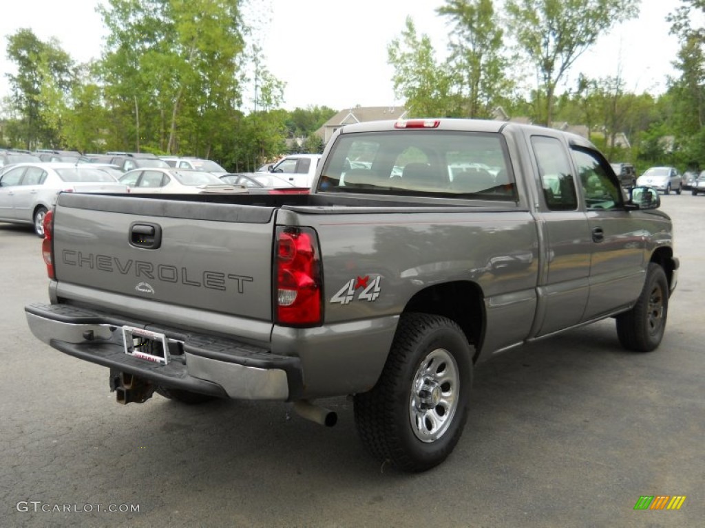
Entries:
[[475, 347], [473, 362], [477, 359], [485, 320], [482, 289], [477, 284], [457, 281], [428, 287], [415, 294], [404, 311], [443, 315], [457, 322]]

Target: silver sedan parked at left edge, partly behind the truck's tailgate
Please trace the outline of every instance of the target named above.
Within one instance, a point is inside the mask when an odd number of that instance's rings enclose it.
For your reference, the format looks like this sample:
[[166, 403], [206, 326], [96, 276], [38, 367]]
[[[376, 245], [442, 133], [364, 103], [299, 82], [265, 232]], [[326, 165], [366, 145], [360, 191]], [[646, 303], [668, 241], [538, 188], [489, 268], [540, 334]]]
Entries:
[[44, 215], [59, 192], [114, 192], [128, 189], [106, 170], [73, 163], [16, 163], [0, 175], [0, 221], [34, 224], [44, 236]]

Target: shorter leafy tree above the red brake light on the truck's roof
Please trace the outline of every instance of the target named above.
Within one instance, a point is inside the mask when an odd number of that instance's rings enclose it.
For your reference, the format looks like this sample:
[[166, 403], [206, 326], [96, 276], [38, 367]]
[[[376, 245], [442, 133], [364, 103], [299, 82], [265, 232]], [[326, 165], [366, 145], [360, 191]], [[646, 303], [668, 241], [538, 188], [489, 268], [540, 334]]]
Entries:
[[453, 75], [447, 63], [436, 63], [431, 39], [417, 36], [410, 17], [406, 19], [401, 39], [387, 47], [388, 63], [393, 65], [394, 91], [405, 99], [412, 117], [459, 116], [460, 101], [451, 94]]

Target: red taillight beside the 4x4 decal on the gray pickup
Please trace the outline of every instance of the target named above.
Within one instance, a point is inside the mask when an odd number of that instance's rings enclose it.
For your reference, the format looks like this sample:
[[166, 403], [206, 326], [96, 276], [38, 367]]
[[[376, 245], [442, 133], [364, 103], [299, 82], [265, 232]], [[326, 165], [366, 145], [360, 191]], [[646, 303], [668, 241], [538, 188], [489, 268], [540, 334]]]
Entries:
[[278, 227], [276, 232], [276, 322], [290, 326], [321, 323], [321, 267], [316, 232]]

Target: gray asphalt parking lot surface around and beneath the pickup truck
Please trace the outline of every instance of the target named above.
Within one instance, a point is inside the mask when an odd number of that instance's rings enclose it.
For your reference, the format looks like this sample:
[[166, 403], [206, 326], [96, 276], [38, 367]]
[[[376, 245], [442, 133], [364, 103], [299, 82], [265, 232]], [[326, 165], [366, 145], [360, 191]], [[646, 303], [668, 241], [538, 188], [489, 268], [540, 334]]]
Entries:
[[[705, 518], [705, 197], [662, 196], [680, 279], [653, 353], [612, 320], [474, 372], [460, 444], [405, 474], [362, 449], [345, 398], [323, 428], [286, 403], [120, 406], [108, 370], [30, 333], [40, 241], [0, 223], [0, 524], [124, 527], [695, 527]], [[511, 325], [511, 321], [507, 322]], [[680, 510], [635, 510], [685, 496]]]

